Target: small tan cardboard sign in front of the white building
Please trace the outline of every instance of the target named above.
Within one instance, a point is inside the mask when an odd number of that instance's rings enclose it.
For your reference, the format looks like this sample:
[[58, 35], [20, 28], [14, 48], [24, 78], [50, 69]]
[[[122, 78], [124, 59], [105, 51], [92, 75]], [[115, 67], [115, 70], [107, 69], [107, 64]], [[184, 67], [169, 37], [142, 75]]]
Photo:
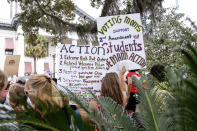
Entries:
[[19, 62], [20, 62], [20, 55], [6, 56], [6, 60], [4, 64], [4, 72], [7, 75], [18, 76]]

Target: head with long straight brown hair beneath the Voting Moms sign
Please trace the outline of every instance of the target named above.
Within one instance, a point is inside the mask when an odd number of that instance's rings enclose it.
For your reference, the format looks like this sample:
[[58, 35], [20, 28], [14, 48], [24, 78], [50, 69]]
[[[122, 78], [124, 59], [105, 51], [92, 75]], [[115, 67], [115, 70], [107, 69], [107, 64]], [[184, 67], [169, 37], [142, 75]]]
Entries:
[[123, 105], [123, 94], [120, 79], [116, 73], [107, 73], [101, 85], [101, 96], [110, 97], [118, 104]]

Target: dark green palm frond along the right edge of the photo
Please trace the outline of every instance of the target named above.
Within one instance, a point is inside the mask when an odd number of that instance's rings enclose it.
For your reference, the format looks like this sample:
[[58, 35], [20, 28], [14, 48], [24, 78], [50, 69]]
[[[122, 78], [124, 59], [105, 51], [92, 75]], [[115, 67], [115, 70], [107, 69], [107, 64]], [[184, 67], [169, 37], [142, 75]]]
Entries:
[[176, 108], [177, 111], [175, 115], [175, 123], [182, 130], [196, 130], [197, 125], [195, 121], [197, 120], [197, 51], [194, 47], [188, 45], [188, 51], [182, 51], [184, 54], [184, 60], [191, 70], [191, 75], [188, 77], [190, 79], [183, 79], [185, 88], [180, 88], [175, 90], [176, 100], [178, 101], [171, 108]]

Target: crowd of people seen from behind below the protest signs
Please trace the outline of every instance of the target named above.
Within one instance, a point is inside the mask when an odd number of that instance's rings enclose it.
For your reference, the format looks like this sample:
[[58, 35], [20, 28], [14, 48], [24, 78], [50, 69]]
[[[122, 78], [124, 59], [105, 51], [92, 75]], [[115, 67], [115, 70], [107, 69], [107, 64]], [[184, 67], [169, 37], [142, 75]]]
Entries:
[[[151, 68], [149, 74], [152, 78], [163, 81], [164, 72], [164, 66], [157, 64]], [[139, 89], [133, 82], [133, 77], [140, 79], [141, 76], [137, 73], [137, 70], [130, 70], [126, 73], [124, 66], [119, 74], [115, 72], [107, 73], [102, 80], [100, 94], [104, 97], [110, 97], [118, 104], [122, 105], [123, 109], [125, 109], [130, 116], [136, 111], [136, 105], [139, 103], [136, 99], [139, 95]], [[143, 88], [145, 90], [147, 89], [146, 87]], [[54, 102], [65, 112], [65, 105], [69, 103], [68, 99], [62, 97], [61, 92], [57, 89], [56, 82], [47, 75], [34, 75], [28, 81], [18, 79], [16, 83], [10, 84], [6, 74], [0, 71], [0, 95], [2, 103], [0, 107], [8, 107], [9, 110], [14, 110], [16, 112], [23, 110], [22, 105], [20, 105], [16, 97], [20, 97], [27, 101], [27, 103], [40, 114], [42, 114], [42, 112], [37, 109], [39, 104], [38, 99], [43, 102]], [[90, 101], [89, 106], [91, 110], [95, 108], [102, 110], [99, 104], [94, 100]], [[77, 106], [77, 108], [75, 107], [74, 110], [82, 118], [89, 117], [79, 106]], [[2, 114], [1, 111], [0, 113]]]

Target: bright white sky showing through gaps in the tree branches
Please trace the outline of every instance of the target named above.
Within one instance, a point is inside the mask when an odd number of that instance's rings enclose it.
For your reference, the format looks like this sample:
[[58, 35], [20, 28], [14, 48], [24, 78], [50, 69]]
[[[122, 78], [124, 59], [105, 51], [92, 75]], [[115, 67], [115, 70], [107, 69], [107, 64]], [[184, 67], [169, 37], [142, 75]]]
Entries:
[[[10, 10], [7, 0], [0, 0], [0, 18], [9, 19]], [[177, 0], [164, 0], [164, 7], [175, 7]], [[92, 8], [90, 5], [90, 0], [73, 0], [73, 2], [86, 13], [94, 18], [97, 18], [101, 14], [101, 9]], [[178, 0], [179, 12], [185, 13], [186, 16], [190, 17], [193, 21], [197, 23], [197, 0]]]

